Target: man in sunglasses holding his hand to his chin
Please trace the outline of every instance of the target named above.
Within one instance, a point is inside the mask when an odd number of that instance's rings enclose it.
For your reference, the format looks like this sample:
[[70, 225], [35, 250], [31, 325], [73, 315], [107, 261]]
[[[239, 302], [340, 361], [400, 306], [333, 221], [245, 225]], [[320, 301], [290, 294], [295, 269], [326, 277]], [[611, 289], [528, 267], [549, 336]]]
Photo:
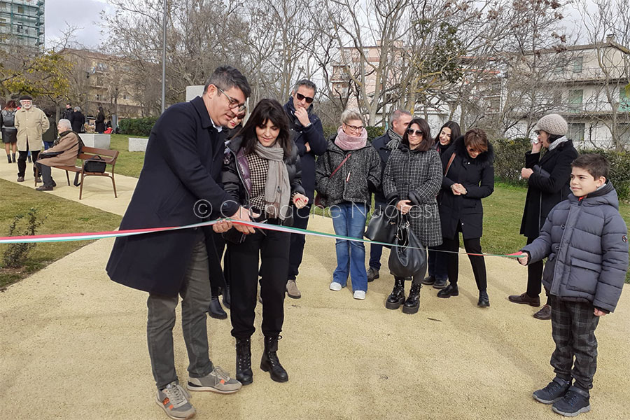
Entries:
[[[315, 157], [322, 155], [328, 145], [323, 137], [321, 120], [313, 112], [313, 99], [317, 92], [315, 83], [302, 79], [295, 83], [293, 92], [288, 102], [284, 104], [284, 111], [289, 118], [293, 141], [300, 155], [302, 167], [302, 186], [309, 197], [309, 204], [302, 209], [293, 209], [293, 227], [306, 229], [309, 223], [311, 204], [314, 200], [315, 190]], [[289, 253], [289, 272], [286, 281], [286, 293], [288, 297], [299, 299], [302, 297], [297, 288], [295, 279], [298, 268], [302, 263], [304, 253], [304, 235], [291, 235]]]

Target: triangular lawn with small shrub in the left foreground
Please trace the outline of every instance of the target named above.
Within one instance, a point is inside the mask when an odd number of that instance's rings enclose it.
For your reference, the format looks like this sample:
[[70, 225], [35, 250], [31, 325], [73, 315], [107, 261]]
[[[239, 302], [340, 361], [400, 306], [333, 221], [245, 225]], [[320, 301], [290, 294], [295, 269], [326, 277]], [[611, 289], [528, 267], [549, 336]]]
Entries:
[[[8, 234], [13, 218], [18, 214], [27, 214], [36, 207], [39, 216], [47, 216], [37, 235], [69, 232], [99, 232], [113, 230], [120, 225], [121, 217], [106, 211], [94, 209], [77, 202], [41, 193], [26, 186], [0, 179], [3, 200], [0, 201], [0, 236]], [[55, 244], [37, 244], [20, 269], [0, 267], [0, 289], [15, 281], [25, 278], [32, 272], [45, 267], [59, 258], [76, 251], [91, 241], [58, 242]], [[9, 245], [0, 245], [0, 265], [2, 256]]]

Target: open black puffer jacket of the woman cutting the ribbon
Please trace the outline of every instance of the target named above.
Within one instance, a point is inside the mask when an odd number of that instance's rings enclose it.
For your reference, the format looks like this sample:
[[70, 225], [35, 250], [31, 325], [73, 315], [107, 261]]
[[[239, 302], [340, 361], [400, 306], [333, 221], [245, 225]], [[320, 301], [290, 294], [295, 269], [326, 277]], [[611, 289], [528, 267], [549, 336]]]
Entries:
[[[252, 188], [251, 176], [247, 158], [241, 148], [242, 142], [243, 137], [241, 136], [237, 136], [228, 141], [227, 148], [225, 148], [223, 176], [221, 179], [223, 189], [232, 197], [232, 200], [249, 208], [251, 207], [249, 203], [249, 195]], [[286, 170], [288, 172], [291, 195], [294, 193], [304, 194], [304, 188], [302, 188], [302, 172], [300, 171], [300, 157], [297, 155], [295, 145], [292, 144], [291, 155], [288, 158], [285, 156], [284, 163], [286, 164]], [[282, 224], [285, 226], [293, 225], [293, 215], [286, 218]]]

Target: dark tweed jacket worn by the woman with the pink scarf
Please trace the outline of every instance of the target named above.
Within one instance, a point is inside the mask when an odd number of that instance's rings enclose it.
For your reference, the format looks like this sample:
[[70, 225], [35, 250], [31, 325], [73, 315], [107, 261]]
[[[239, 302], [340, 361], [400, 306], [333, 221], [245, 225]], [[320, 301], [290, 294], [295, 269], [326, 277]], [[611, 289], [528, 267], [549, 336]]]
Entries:
[[[315, 183], [323, 204], [342, 202], [371, 204], [370, 193], [381, 185], [381, 158], [370, 144], [356, 151], [342, 151], [335, 144], [337, 135], [328, 140], [328, 150], [317, 160]], [[352, 153], [334, 176], [330, 176], [348, 153]]]

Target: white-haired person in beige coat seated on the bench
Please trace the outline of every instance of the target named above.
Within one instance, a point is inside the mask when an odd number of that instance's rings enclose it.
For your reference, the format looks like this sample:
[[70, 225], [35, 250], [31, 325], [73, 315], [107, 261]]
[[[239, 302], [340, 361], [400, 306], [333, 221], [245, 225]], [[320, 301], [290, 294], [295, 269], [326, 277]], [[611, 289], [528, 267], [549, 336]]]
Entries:
[[53, 166], [74, 166], [76, 157], [80, 153], [78, 135], [72, 131], [69, 120], [59, 120], [57, 130], [59, 139], [55, 140], [51, 148], [39, 154], [35, 165], [43, 179], [43, 186], [35, 188], [38, 191], [52, 191], [57, 183], [52, 179], [50, 168]]

